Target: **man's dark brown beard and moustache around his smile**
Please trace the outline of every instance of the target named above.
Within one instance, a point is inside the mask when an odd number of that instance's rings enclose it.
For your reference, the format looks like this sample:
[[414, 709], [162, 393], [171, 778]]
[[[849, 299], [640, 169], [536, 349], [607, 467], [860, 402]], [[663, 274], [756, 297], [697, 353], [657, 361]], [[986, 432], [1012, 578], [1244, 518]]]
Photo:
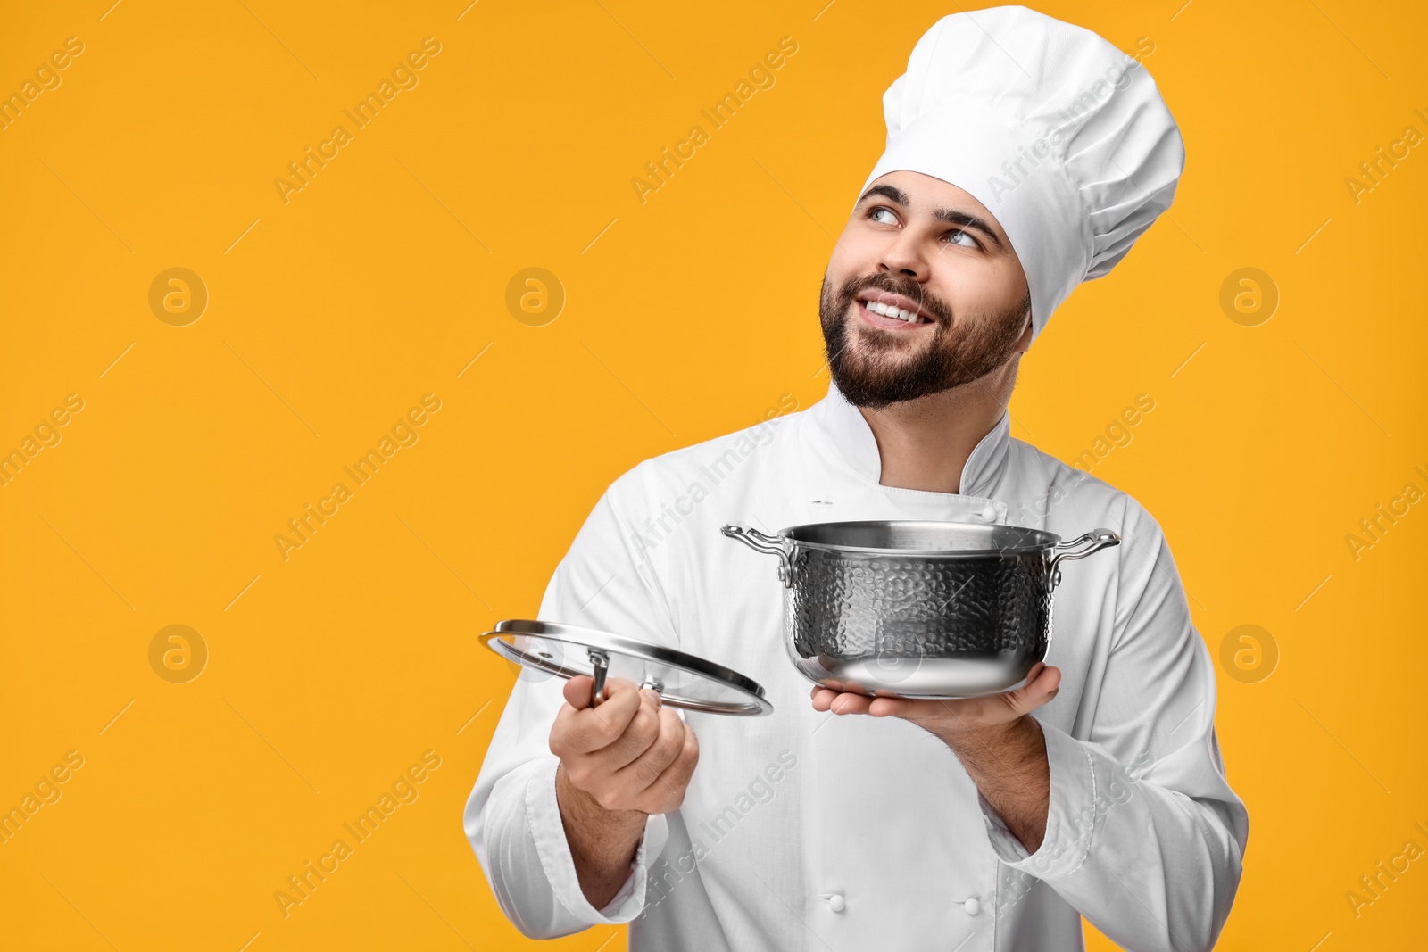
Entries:
[[[918, 301], [922, 313], [937, 324], [930, 331], [931, 340], [920, 343], [895, 340], [911, 334], [927, 335], [928, 331], [878, 333], [860, 328], [855, 331], [861, 338], [858, 345], [850, 347], [848, 337], [854, 331], [848, 325], [854, 321], [861, 323], [860, 317], [850, 317], [850, 310], [855, 305], [854, 295], [868, 287]], [[954, 334], [951, 308], [928, 297], [922, 285], [912, 278], [891, 274], [854, 277], [834, 294], [828, 278], [824, 277], [823, 291], [818, 295], [818, 320], [823, 324], [833, 383], [850, 404], [871, 410], [940, 394], [997, 370], [1017, 351], [1030, 310], [1028, 293], [1025, 300], [1010, 311], [970, 318], [960, 315]], [[907, 351], [907, 355], [901, 351]]]

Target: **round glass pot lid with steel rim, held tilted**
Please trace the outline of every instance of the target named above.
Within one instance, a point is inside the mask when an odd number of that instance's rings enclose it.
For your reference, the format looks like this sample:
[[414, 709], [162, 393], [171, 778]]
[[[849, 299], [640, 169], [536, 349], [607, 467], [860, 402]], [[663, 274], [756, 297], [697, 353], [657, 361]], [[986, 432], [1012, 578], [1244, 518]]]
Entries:
[[508, 618], [496, 631], [481, 635], [481, 644], [531, 671], [561, 678], [593, 678], [591, 704], [604, 701], [607, 678], [625, 678], [653, 688], [671, 708], [704, 714], [758, 716], [774, 705], [764, 688], [744, 675], [704, 658], [627, 638], [608, 631], [580, 628], [553, 621]]

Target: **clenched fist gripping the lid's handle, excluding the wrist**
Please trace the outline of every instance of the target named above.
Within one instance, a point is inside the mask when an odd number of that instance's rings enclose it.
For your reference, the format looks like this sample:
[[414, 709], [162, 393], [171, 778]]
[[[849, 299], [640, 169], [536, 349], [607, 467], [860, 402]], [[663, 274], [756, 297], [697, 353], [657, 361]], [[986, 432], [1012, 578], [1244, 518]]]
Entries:
[[700, 759], [694, 729], [663, 707], [657, 692], [633, 681], [607, 681], [595, 708], [590, 685], [587, 677], [565, 682], [565, 707], [550, 731], [551, 754], [570, 786], [607, 811], [677, 809]]

